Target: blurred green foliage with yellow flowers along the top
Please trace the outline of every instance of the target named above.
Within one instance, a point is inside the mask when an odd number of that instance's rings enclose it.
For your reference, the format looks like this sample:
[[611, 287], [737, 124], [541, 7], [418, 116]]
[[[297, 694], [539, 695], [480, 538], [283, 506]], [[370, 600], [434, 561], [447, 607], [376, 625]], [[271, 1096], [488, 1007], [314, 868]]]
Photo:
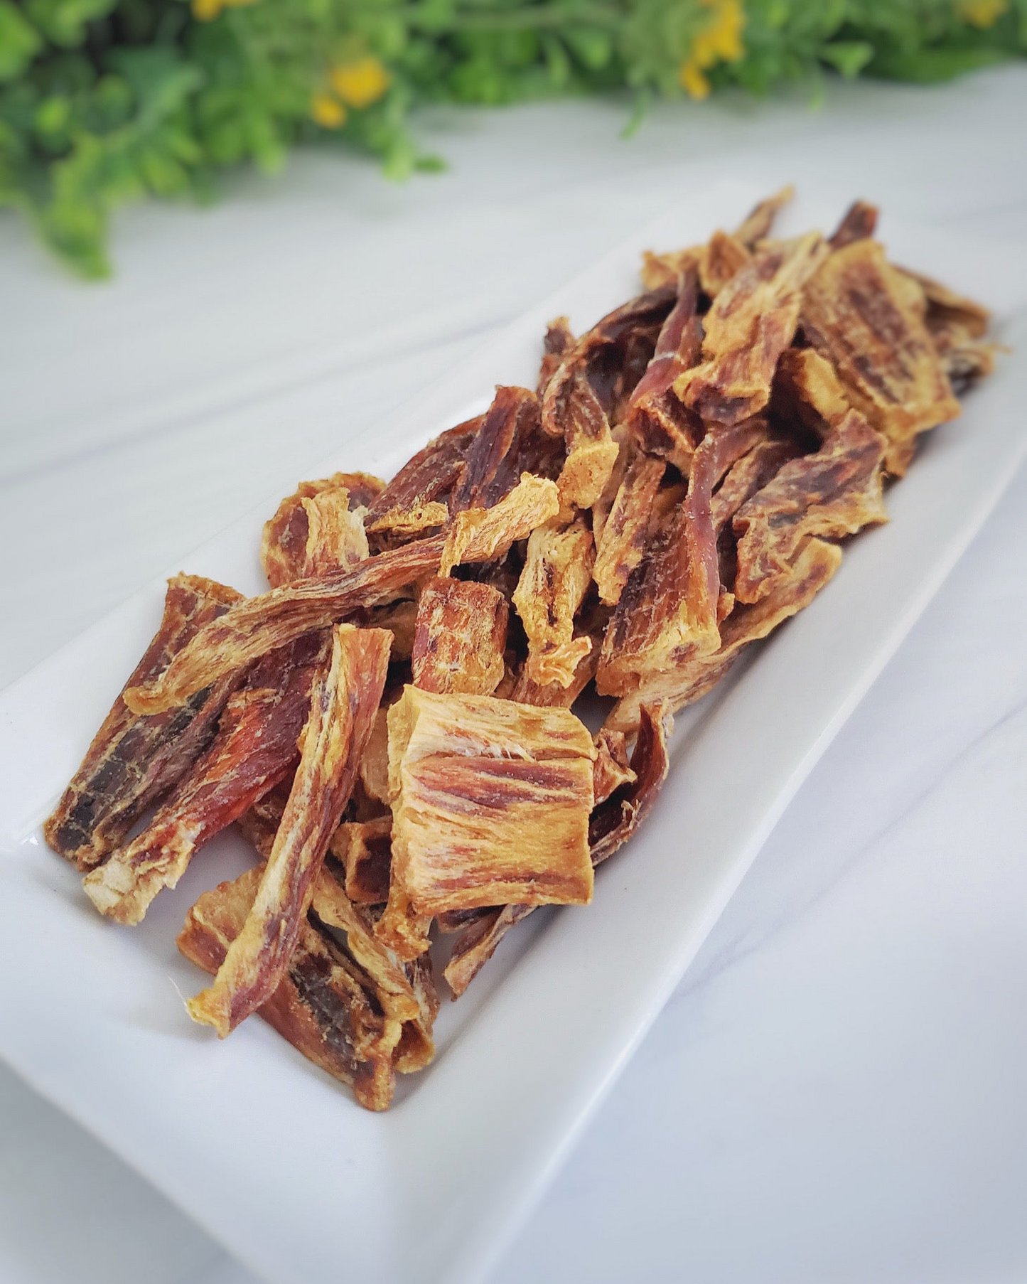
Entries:
[[440, 168], [407, 127], [420, 103], [626, 86], [630, 132], [683, 82], [936, 81], [1024, 51], [1027, 0], [0, 0], [0, 204], [101, 276], [119, 203], [209, 199], [218, 169], [304, 140]]

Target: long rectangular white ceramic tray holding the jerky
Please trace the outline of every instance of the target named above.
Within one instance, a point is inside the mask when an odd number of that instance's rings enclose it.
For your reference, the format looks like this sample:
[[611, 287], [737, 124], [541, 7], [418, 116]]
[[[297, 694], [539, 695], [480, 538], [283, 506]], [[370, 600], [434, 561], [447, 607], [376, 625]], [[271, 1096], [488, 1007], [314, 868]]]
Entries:
[[[566, 312], [583, 329], [635, 293], [643, 248], [702, 240], [760, 195], [716, 186], [644, 227], [311, 475], [389, 475], [484, 407], [497, 381], [534, 383], [549, 317]], [[887, 205], [886, 193], [859, 195]], [[800, 199], [781, 226], [829, 229], [840, 214]], [[1013, 356], [891, 490], [891, 524], [860, 535], [815, 602], [679, 718], [664, 795], [601, 869], [594, 903], [511, 933], [467, 995], [444, 1005], [435, 1063], [401, 1079], [388, 1115], [359, 1109], [259, 1021], [223, 1044], [189, 1021], [182, 996], [203, 977], [175, 935], [200, 890], [243, 868], [237, 838], [205, 849], [139, 928], [100, 919], [41, 841], [40, 820], [157, 625], [163, 582], [0, 697], [0, 1054], [258, 1275], [469, 1284], [487, 1274], [782, 809], [996, 502], [1027, 444], [1023, 270], [1009, 252], [887, 214], [882, 236], [897, 262], [991, 304]], [[276, 498], [169, 570], [258, 591], [259, 529]], [[117, 1234], [117, 1210], [98, 1216]]]

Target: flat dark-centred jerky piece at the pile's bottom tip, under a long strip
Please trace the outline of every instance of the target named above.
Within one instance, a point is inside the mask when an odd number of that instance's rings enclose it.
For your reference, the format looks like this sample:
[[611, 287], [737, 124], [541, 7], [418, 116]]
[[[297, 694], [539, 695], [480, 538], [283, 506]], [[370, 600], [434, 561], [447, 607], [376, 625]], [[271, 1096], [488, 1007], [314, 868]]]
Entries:
[[[248, 869], [234, 882], [204, 892], [190, 909], [178, 949], [217, 973], [244, 931], [261, 882]], [[401, 1027], [381, 1009], [371, 978], [303, 915], [291, 958], [259, 1014], [308, 1061], [352, 1084], [361, 1106], [389, 1107], [393, 1054]]]

